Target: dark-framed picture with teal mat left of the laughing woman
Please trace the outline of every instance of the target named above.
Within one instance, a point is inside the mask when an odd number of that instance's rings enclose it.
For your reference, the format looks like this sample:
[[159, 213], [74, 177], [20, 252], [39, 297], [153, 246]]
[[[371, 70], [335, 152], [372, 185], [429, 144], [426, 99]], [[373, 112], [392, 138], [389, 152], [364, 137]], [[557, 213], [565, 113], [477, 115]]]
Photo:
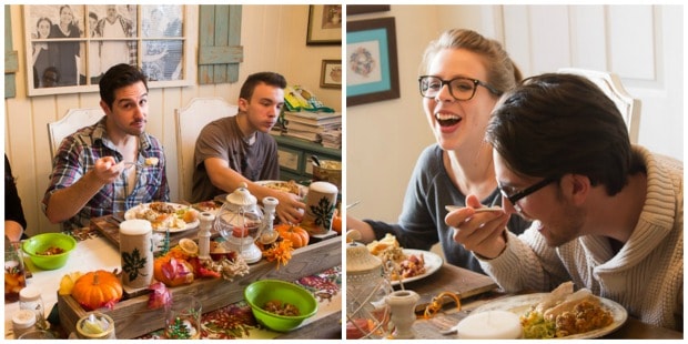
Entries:
[[346, 105], [399, 98], [394, 18], [346, 22]]

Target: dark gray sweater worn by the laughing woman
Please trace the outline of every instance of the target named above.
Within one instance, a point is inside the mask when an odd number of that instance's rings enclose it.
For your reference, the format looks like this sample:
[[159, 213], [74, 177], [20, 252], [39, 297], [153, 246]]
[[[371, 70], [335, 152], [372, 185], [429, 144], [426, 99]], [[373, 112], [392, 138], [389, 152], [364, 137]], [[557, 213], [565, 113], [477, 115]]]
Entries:
[[[442, 148], [433, 144], [418, 158], [406, 189], [404, 208], [397, 224], [372, 220], [365, 222], [373, 226], [378, 240], [385, 233], [391, 233], [403, 247], [418, 250], [429, 250], [439, 242], [447, 263], [484, 273], [473, 253], [454, 241], [454, 230], [444, 223], [444, 217], [448, 213], [444, 209], [445, 205], [465, 206], [466, 195], [452, 183], [444, 168], [442, 153]], [[500, 205], [499, 190], [495, 189], [485, 200], [480, 200], [480, 203], [488, 206]], [[528, 224], [520, 216], [512, 215], [507, 227], [510, 232], [520, 234]]]

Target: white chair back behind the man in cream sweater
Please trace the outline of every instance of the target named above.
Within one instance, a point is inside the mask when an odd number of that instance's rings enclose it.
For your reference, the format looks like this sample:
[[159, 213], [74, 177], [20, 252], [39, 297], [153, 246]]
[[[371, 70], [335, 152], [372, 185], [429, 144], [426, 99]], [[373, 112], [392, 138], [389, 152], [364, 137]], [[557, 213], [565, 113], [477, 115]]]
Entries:
[[628, 94], [621, 79], [615, 73], [603, 72], [579, 68], [561, 68], [557, 72], [569, 73], [586, 77], [595, 82], [603, 92], [614, 101], [621, 112], [626, 127], [628, 128], [628, 136], [630, 143], [638, 143], [638, 128], [640, 125], [640, 100]]

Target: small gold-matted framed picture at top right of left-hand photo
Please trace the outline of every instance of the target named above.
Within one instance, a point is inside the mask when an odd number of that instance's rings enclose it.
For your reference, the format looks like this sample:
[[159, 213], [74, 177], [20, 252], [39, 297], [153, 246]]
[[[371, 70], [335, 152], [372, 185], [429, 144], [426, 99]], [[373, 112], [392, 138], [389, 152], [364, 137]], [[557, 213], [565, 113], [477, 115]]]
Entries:
[[342, 44], [342, 6], [311, 4], [306, 45]]

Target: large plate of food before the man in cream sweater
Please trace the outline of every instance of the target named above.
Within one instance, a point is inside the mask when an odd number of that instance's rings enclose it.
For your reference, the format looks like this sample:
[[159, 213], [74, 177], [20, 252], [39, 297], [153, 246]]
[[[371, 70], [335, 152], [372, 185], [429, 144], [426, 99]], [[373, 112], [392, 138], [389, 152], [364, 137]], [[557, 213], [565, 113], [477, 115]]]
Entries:
[[482, 305], [473, 313], [488, 311], [517, 314], [524, 338], [597, 338], [614, 332], [628, 318], [624, 306], [586, 289], [575, 293], [555, 291], [508, 296]]

